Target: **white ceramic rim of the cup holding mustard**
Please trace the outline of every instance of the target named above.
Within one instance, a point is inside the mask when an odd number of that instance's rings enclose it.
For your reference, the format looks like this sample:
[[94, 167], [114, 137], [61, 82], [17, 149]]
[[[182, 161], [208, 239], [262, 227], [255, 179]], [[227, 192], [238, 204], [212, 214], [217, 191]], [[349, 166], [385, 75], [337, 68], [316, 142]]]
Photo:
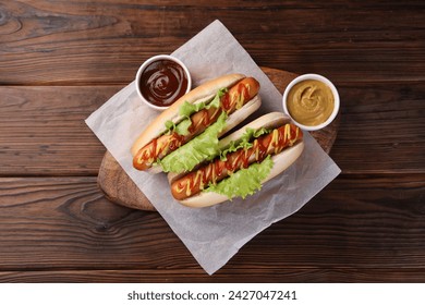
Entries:
[[[327, 85], [330, 88], [330, 90], [332, 91], [332, 95], [333, 95], [333, 111], [331, 112], [330, 117], [321, 124], [314, 125], [314, 126], [307, 126], [307, 125], [303, 125], [303, 124], [296, 122], [296, 120], [294, 120], [294, 118], [292, 118], [291, 114], [289, 113], [288, 107], [287, 107], [289, 91], [292, 89], [292, 87], [295, 84], [298, 84], [302, 81], [306, 81], [306, 80], [315, 80], [315, 81], [319, 81], [319, 82], [324, 83], [325, 85]], [[339, 100], [339, 94], [338, 94], [337, 88], [328, 78], [326, 78], [321, 75], [318, 75], [318, 74], [303, 74], [303, 75], [298, 76], [291, 83], [289, 83], [288, 87], [284, 89], [284, 93], [283, 93], [282, 103], [283, 103], [284, 113], [287, 113], [291, 118], [291, 120], [294, 122], [295, 125], [298, 125], [300, 129], [305, 130], [305, 131], [317, 131], [317, 130], [321, 130], [321, 129], [326, 127], [337, 117], [339, 108], [340, 108], [340, 100]]]

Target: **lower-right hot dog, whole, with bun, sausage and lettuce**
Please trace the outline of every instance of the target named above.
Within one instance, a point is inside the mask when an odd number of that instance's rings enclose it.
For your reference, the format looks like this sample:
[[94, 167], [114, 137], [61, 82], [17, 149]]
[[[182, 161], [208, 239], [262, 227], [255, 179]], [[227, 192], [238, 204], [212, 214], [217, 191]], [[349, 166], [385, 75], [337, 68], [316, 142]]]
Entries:
[[[272, 112], [223, 138], [220, 146], [224, 152], [221, 158], [184, 175], [169, 175], [177, 200], [190, 207], [206, 207], [247, 196], [292, 164], [304, 144], [302, 131], [282, 113]], [[246, 184], [251, 181], [254, 185], [250, 188]]]

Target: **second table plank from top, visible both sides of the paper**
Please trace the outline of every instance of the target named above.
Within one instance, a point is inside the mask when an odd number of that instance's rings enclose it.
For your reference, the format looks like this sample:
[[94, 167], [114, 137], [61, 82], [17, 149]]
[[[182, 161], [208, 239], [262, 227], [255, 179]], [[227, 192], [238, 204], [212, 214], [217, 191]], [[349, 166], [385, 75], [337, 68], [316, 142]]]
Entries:
[[[330, 156], [344, 173], [424, 172], [422, 84], [339, 85], [341, 120]], [[0, 175], [97, 175], [105, 147], [84, 119], [120, 89], [0, 86]]]

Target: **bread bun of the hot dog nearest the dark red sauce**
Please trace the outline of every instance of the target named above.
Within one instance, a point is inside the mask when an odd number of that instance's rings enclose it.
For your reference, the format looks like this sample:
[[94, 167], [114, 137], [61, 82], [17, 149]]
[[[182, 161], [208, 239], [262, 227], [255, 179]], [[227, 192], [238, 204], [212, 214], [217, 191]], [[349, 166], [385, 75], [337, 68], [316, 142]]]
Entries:
[[[215, 96], [220, 89], [231, 88], [236, 83], [248, 78], [253, 80], [256, 83], [255, 85], [257, 86], [258, 89], [259, 84], [254, 78], [246, 77], [243, 74], [229, 74], [229, 75], [224, 75], [208, 81], [202, 84], [201, 86], [194, 88], [186, 95], [182, 96], [170, 108], [168, 108], [166, 111], [160, 113], [153, 122], [150, 122], [150, 124], [146, 127], [146, 130], [134, 142], [131, 148], [131, 154], [133, 158], [135, 158], [135, 156], [137, 155], [137, 152], [139, 152], [142, 148], [144, 148], [146, 145], [155, 141], [158, 136], [160, 136], [167, 131], [166, 122], [171, 121], [177, 125], [183, 119], [185, 119], [185, 117], [182, 117], [179, 113], [180, 108], [183, 103], [189, 102], [189, 103], [197, 105], [201, 102], [209, 102], [215, 98]], [[230, 113], [226, 120], [226, 127], [220, 132], [219, 136], [230, 131], [240, 122], [242, 122], [244, 119], [246, 119], [250, 114], [255, 112], [255, 110], [259, 108], [260, 102], [262, 102], [260, 97], [258, 94], [256, 94], [253, 98], [251, 98], [247, 102], [245, 102], [240, 109]], [[135, 168], [141, 169], [137, 167], [137, 164], [135, 164], [135, 162], [133, 162], [133, 164]], [[151, 173], [157, 173], [162, 171], [161, 167], [158, 164], [153, 164], [149, 168], [141, 169], [141, 170], [146, 170]]]

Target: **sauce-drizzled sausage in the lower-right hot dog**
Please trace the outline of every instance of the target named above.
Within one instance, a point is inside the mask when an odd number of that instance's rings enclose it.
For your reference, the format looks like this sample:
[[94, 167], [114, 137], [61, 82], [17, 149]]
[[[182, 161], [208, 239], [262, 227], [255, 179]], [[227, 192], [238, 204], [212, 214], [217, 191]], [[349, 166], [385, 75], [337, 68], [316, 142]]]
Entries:
[[226, 160], [216, 159], [174, 181], [171, 184], [171, 194], [178, 200], [196, 195], [209, 184], [217, 184], [240, 169], [247, 168], [254, 162], [262, 162], [269, 155], [281, 152], [302, 137], [302, 131], [293, 124], [275, 129], [269, 134], [256, 138], [251, 148], [240, 148], [230, 152]]

